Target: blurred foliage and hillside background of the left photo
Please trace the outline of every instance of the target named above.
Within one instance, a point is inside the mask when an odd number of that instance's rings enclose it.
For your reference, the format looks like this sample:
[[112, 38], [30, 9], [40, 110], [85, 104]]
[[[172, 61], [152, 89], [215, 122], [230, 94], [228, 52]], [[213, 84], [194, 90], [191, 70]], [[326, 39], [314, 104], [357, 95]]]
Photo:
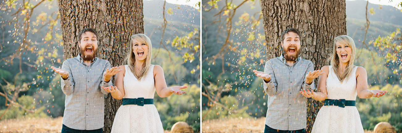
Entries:
[[[160, 98], [155, 93], [164, 129], [185, 121], [199, 132], [200, 1], [143, 2], [144, 34], [153, 44], [151, 64], [164, 69], [168, 86], [188, 86], [185, 95]], [[60, 89], [60, 76], [49, 69], [61, 67], [66, 60], [57, 4], [57, 0], [1, 2], [0, 131], [61, 130], [65, 94]], [[35, 124], [39, 121], [44, 122], [38, 127]], [[25, 127], [15, 126], [18, 123], [25, 123]]]

